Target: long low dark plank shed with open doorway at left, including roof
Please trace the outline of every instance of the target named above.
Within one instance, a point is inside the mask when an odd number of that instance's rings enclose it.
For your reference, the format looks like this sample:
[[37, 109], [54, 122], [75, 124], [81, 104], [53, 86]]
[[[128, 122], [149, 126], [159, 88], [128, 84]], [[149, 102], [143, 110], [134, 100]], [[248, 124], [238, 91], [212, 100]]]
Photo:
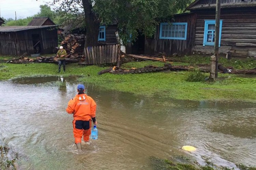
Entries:
[[0, 27], [0, 55], [48, 54], [57, 46], [56, 26]]

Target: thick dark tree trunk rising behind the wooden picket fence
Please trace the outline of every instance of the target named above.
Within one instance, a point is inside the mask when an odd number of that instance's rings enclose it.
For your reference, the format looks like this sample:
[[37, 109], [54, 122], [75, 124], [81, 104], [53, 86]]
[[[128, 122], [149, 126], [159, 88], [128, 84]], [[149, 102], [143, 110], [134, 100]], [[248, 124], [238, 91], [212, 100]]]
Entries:
[[90, 0], [82, 0], [84, 13], [85, 13], [85, 24], [86, 24], [86, 41], [85, 47], [93, 47], [98, 45], [98, 35], [100, 22], [93, 12], [93, 5]]

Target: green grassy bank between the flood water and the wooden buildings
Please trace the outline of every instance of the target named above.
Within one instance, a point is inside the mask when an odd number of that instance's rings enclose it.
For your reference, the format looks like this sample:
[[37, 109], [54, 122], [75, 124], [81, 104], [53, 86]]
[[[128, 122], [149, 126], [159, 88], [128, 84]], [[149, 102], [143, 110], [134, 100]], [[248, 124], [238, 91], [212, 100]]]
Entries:
[[[210, 57], [179, 57], [173, 65], [209, 64]], [[256, 67], [255, 60], [226, 60], [221, 58], [224, 66], [235, 69], [252, 69]], [[162, 62], [143, 61], [130, 62], [122, 65], [124, 68], [144, 67], [146, 65], [163, 66]], [[131, 92], [138, 95], [167, 97], [185, 100], [245, 100], [256, 101], [256, 79], [234, 74], [219, 74], [214, 83], [186, 82], [188, 72], [158, 72], [143, 74], [114, 75], [97, 73], [108, 67], [67, 65], [66, 73], [57, 73], [56, 64], [0, 64], [0, 80], [15, 77], [31, 77], [42, 75], [81, 75], [80, 82], [94, 84], [105, 90]], [[209, 77], [205, 73], [205, 78]]]

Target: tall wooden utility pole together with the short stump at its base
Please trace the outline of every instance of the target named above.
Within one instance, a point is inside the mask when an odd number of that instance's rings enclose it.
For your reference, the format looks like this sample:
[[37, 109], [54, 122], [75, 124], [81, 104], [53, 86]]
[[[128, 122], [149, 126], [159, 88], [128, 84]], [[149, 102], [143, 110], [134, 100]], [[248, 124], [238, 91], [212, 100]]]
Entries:
[[210, 80], [218, 78], [218, 58], [219, 58], [219, 22], [221, 18], [221, 0], [216, 0], [215, 16], [215, 36], [214, 36], [214, 55], [211, 57]]

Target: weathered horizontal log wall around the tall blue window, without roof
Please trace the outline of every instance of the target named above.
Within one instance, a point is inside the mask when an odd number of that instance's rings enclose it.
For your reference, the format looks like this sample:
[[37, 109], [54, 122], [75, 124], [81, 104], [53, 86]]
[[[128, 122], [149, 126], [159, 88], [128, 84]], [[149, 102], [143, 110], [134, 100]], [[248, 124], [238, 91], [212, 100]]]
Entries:
[[[197, 12], [195, 52], [212, 54], [214, 46], [203, 47], [204, 20], [215, 20], [215, 11]], [[256, 13], [254, 10], [221, 11], [221, 54], [231, 53], [232, 56], [256, 56]]]

